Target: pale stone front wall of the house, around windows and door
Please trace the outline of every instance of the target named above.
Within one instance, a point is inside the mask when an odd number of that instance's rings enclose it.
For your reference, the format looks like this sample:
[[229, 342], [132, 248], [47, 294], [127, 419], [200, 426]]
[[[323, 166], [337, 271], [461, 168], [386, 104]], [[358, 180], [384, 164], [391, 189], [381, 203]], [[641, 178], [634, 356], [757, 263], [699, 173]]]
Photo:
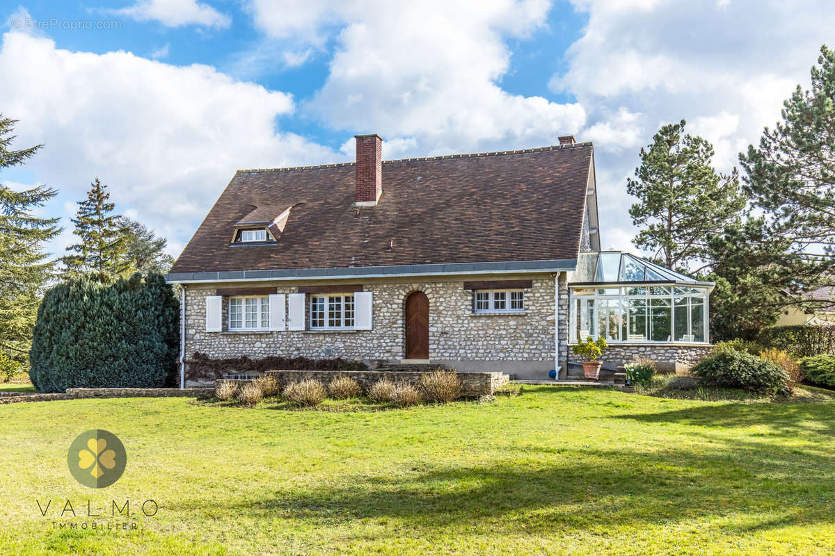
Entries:
[[[308, 298], [308, 329], [304, 331], [228, 332], [228, 303], [224, 303], [225, 332], [206, 332], [205, 298], [215, 295], [216, 287], [190, 285], [185, 303], [185, 353], [187, 358], [200, 352], [210, 358], [281, 355], [362, 358], [369, 363], [398, 360], [405, 353], [406, 298], [421, 291], [429, 300], [429, 358], [433, 363], [468, 371], [516, 373], [534, 369], [547, 376], [548, 370], [554, 368], [554, 274], [475, 278], [532, 278], [533, 287], [525, 290], [524, 313], [473, 313], [473, 292], [463, 287], [463, 282], [473, 277], [411, 278], [402, 282], [377, 278], [362, 282], [363, 289], [373, 293], [371, 330], [310, 330]], [[311, 283], [278, 283], [276, 293], [296, 293], [300, 285]], [[559, 273], [559, 297], [560, 361], [564, 362], [568, 355], [569, 308], [565, 273]]]

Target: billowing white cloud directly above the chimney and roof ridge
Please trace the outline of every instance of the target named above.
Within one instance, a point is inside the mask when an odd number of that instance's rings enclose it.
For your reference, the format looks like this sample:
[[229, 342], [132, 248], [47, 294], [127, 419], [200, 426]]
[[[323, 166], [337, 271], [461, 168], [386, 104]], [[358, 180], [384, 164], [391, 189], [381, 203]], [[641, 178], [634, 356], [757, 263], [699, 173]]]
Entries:
[[348, 133], [380, 133], [385, 156], [557, 143], [585, 120], [576, 103], [512, 94], [509, 38], [544, 25], [542, 0], [251, 3], [276, 40], [336, 41], [326, 83], [306, 112]]

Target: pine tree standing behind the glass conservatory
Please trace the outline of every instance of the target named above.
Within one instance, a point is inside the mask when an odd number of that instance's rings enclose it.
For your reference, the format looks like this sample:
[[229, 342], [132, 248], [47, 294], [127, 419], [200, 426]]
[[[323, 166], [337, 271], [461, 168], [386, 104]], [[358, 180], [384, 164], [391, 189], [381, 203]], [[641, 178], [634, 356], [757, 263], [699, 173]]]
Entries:
[[633, 243], [653, 251], [667, 268], [686, 269], [706, 259], [707, 238], [739, 221], [746, 205], [736, 170], [717, 173], [713, 146], [701, 137], [683, 135], [686, 122], [660, 128], [648, 148], [640, 149], [640, 167], [626, 190], [639, 199], [630, 208], [642, 227]]

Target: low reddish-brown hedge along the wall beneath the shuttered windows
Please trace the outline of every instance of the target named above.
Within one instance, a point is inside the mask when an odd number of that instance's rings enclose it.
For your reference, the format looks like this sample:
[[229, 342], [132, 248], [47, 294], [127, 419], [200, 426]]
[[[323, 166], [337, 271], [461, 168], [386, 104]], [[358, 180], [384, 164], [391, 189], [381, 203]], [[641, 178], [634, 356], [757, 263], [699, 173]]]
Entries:
[[362, 361], [347, 359], [286, 358], [271, 355], [251, 359], [246, 356], [213, 359], [205, 353], [195, 352], [188, 360], [185, 378], [190, 380], [222, 378], [224, 373], [265, 373], [266, 371], [367, 371]]

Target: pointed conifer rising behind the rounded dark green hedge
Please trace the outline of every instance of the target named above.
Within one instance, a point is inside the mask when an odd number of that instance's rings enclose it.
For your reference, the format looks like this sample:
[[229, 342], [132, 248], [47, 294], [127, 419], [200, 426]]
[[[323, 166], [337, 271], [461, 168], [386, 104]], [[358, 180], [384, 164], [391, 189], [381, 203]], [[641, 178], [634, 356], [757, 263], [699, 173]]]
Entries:
[[78, 201], [78, 212], [72, 219], [73, 233], [81, 239], [67, 248], [74, 253], [63, 258], [64, 278], [90, 274], [104, 282], [112, 282], [129, 274], [127, 259], [129, 237], [119, 226], [119, 214], [113, 214], [107, 186], [96, 178], [87, 192], [87, 199]]

